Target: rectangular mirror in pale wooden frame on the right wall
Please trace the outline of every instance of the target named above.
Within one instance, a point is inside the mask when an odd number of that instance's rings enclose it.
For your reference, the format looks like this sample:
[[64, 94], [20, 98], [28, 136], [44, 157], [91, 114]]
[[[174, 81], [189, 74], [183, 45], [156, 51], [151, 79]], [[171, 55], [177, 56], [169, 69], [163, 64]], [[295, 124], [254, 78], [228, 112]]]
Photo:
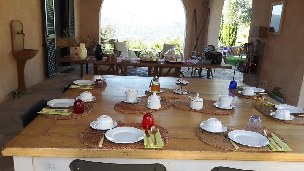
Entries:
[[281, 35], [285, 1], [271, 3], [268, 35]]

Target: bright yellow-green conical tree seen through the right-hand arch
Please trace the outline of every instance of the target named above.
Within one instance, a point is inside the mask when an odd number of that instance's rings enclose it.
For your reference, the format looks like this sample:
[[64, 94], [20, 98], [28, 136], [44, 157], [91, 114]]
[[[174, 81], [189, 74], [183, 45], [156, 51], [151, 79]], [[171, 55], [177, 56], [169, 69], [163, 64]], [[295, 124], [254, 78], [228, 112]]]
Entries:
[[226, 23], [224, 26], [224, 33], [223, 33], [223, 45], [225, 47], [234, 46], [236, 40], [237, 40], [237, 26], [231, 26], [229, 23]]

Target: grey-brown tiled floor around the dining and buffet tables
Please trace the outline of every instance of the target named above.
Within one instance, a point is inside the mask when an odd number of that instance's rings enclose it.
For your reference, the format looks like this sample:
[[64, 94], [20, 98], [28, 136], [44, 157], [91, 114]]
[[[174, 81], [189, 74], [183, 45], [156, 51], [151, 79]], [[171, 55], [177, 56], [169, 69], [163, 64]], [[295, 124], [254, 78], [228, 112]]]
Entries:
[[[67, 67], [60, 67], [56, 75], [49, 79], [30, 87], [30, 93], [22, 95], [21, 99], [8, 99], [0, 104], [0, 147], [5, 145], [19, 131], [22, 130], [20, 115], [40, 99], [55, 99], [61, 95], [61, 89], [70, 82], [80, 78], [80, 65], [73, 65], [70, 68], [76, 68], [71, 73], [60, 73]], [[85, 68], [85, 67], [84, 67]], [[91, 68], [91, 69], [90, 69]], [[93, 74], [92, 65], [89, 65], [89, 74]], [[188, 68], [182, 68], [185, 72]], [[191, 70], [185, 73], [185, 77], [190, 77]], [[147, 68], [129, 67], [128, 75], [146, 76]], [[206, 71], [202, 72], [206, 75]], [[216, 69], [215, 79], [232, 79], [233, 69]], [[242, 82], [243, 74], [236, 71], [235, 80]], [[3, 157], [0, 155], [0, 171], [13, 171], [14, 164], [12, 157]]]

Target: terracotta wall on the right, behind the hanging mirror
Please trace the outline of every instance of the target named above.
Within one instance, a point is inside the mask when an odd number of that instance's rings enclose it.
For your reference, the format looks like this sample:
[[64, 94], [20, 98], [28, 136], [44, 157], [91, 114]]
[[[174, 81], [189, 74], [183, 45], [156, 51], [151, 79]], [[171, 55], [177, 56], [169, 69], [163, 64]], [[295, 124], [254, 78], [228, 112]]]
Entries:
[[[269, 26], [271, 3], [278, 0], [253, 0], [250, 30], [253, 26]], [[300, 91], [303, 84], [304, 58], [304, 24], [303, 0], [285, 0], [285, 14], [283, 18], [281, 36], [268, 35], [260, 38], [265, 42], [263, 61], [259, 82], [267, 81], [268, 85], [261, 85], [267, 90], [274, 86], [281, 86], [286, 97], [285, 103], [298, 106]], [[250, 37], [250, 40], [256, 38]], [[304, 107], [302, 104], [299, 106]]]

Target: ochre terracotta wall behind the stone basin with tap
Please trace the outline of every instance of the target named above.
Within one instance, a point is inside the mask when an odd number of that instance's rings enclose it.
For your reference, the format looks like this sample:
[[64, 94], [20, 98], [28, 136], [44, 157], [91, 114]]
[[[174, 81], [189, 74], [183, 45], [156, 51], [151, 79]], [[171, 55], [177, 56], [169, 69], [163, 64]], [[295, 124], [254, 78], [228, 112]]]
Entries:
[[10, 92], [18, 88], [17, 62], [12, 56], [11, 30], [12, 20], [23, 24], [24, 47], [37, 49], [39, 53], [25, 66], [26, 86], [30, 87], [46, 78], [42, 52], [41, 1], [23, 0], [21, 2], [0, 1], [0, 103], [11, 97]]

